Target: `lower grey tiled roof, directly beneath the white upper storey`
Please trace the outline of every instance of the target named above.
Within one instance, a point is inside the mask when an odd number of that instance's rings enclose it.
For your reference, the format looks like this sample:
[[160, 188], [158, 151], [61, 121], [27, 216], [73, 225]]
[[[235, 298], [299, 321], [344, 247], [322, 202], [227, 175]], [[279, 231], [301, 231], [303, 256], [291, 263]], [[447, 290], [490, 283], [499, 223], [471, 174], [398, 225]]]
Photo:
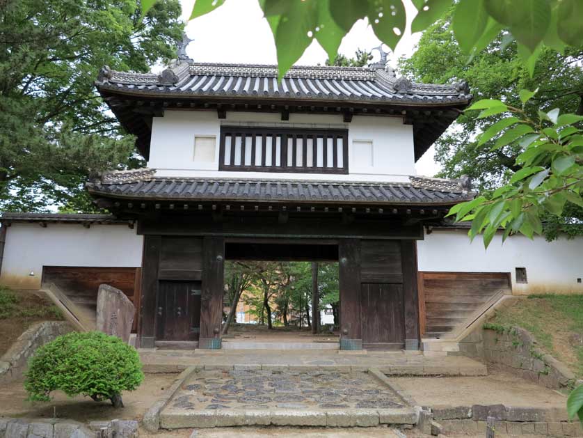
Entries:
[[177, 201], [452, 205], [474, 196], [458, 180], [436, 178], [412, 177], [409, 183], [169, 178], [145, 169], [109, 173], [87, 187], [93, 195]]

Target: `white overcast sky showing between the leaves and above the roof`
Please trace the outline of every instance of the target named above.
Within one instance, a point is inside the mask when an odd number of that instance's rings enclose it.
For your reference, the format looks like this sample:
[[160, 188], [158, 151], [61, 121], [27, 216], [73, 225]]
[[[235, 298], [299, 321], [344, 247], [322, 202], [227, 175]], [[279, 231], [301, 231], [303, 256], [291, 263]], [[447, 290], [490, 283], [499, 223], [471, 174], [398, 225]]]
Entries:
[[[194, 0], [180, 0], [182, 18], [188, 20]], [[415, 14], [410, 0], [405, 1], [408, 24]], [[226, 0], [214, 12], [193, 19], [186, 26], [186, 34], [194, 38], [186, 52], [197, 62], [276, 64], [273, 36], [257, 0]], [[389, 63], [397, 66], [400, 56], [410, 56], [421, 34], [411, 35], [406, 31], [394, 53], [389, 54]], [[381, 42], [374, 36], [365, 20], [359, 20], [342, 40], [339, 52], [353, 56], [356, 49], [372, 49]], [[385, 47], [386, 49], [386, 47]], [[373, 55], [378, 57], [378, 51]], [[299, 65], [324, 64], [326, 52], [314, 40], [298, 61]], [[440, 167], [433, 162], [433, 146], [415, 164], [420, 175], [435, 175]]]

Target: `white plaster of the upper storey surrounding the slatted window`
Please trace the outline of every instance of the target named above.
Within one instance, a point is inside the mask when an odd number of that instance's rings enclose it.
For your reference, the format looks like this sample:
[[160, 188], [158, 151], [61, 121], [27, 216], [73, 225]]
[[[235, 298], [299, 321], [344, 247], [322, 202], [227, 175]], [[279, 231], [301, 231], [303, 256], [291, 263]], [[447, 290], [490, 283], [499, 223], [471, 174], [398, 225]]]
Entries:
[[[221, 125], [348, 128], [349, 175], [226, 172], [218, 171], [218, 139]], [[216, 150], [213, 163], [194, 162], [194, 137], [215, 136]], [[359, 151], [353, 141], [372, 141], [374, 166], [353, 166], [352, 159]], [[413, 126], [404, 125], [401, 118], [355, 116], [351, 123], [343, 123], [342, 115], [290, 114], [282, 122], [280, 114], [227, 112], [226, 119], [218, 119], [214, 111], [165, 111], [163, 117], [154, 117], [150, 161], [160, 176], [200, 176], [230, 178], [286, 178], [300, 180], [352, 180], [406, 182], [415, 175]]]

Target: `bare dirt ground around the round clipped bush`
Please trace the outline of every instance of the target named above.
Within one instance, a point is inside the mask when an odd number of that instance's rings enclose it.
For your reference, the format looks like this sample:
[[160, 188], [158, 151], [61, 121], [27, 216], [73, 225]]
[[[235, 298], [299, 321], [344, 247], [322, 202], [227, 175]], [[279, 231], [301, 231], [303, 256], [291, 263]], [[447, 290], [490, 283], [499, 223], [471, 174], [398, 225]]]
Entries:
[[88, 397], [69, 398], [57, 391], [50, 402], [26, 401], [22, 381], [2, 386], [0, 391], [0, 416], [50, 418], [57, 417], [81, 421], [141, 419], [144, 412], [161, 396], [178, 377], [177, 374], [146, 374], [141, 386], [133, 392], [122, 394], [125, 407], [113, 409], [110, 402], [94, 402]]

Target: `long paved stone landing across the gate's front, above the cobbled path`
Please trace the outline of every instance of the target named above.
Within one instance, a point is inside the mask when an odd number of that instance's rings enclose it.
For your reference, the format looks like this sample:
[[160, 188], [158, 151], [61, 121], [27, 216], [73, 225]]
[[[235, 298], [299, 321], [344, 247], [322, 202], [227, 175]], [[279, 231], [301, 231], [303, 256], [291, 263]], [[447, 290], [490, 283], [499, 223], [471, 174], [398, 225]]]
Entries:
[[426, 357], [420, 352], [344, 352], [308, 350], [139, 350], [145, 372], [205, 369], [363, 371], [389, 375], [486, 375], [484, 363], [468, 357]]

